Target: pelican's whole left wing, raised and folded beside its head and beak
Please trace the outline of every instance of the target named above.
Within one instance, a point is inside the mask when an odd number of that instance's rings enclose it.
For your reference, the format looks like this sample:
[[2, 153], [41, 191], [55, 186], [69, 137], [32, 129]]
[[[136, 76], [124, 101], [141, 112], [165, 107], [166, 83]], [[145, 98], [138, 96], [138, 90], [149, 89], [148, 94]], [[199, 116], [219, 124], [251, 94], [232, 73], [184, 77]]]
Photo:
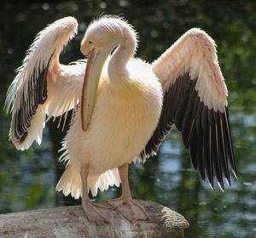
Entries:
[[46, 116], [60, 116], [78, 104], [85, 63], [59, 64], [59, 54], [73, 38], [77, 20], [56, 20], [38, 33], [9, 87], [6, 106], [12, 112], [9, 137], [19, 150], [41, 143]]

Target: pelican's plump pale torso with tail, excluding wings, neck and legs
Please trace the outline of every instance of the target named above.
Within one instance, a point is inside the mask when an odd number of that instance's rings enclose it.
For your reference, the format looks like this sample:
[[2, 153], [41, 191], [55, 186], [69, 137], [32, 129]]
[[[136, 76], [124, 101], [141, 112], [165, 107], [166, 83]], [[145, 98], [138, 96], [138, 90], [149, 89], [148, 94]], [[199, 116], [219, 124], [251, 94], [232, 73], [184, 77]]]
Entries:
[[[137, 158], [159, 120], [162, 89], [151, 65], [141, 59], [131, 59], [127, 64], [130, 76], [120, 80], [118, 86], [111, 83], [107, 68], [108, 61], [97, 88], [90, 127], [86, 132], [81, 130], [78, 110], [67, 132], [64, 142], [67, 178], [65, 183], [61, 180], [57, 185], [57, 190], [63, 189], [67, 194], [73, 191], [72, 186], [78, 187], [81, 194], [81, 161], [89, 164], [88, 185], [93, 195], [98, 187], [107, 190], [108, 185], [119, 185], [117, 168]], [[68, 176], [71, 170], [78, 177], [73, 176], [73, 181]]]

